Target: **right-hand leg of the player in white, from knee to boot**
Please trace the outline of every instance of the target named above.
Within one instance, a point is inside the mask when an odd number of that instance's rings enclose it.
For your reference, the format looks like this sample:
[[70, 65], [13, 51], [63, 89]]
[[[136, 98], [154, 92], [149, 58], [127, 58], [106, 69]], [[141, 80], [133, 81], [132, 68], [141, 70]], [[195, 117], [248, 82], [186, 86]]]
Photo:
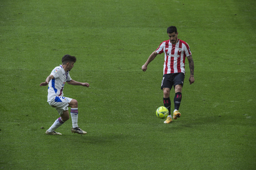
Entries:
[[86, 134], [87, 132], [81, 130], [78, 127], [78, 102], [75, 99], [72, 99], [71, 102], [68, 103], [69, 107], [71, 107], [70, 115], [72, 119], [72, 128], [71, 132], [79, 133], [79, 134]]

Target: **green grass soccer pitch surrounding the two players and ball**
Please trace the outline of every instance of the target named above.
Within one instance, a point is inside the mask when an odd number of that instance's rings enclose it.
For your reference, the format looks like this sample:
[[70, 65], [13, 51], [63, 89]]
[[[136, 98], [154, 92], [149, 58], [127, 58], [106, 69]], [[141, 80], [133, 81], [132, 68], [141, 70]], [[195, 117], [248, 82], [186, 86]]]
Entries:
[[[254, 0], [2, 0], [0, 169], [256, 169]], [[181, 118], [164, 124], [164, 55], [141, 66], [175, 25], [190, 45]], [[78, 125], [59, 117], [39, 87], [65, 54]], [[174, 96], [171, 90], [171, 101]], [[171, 106], [173, 110], [173, 102]]]

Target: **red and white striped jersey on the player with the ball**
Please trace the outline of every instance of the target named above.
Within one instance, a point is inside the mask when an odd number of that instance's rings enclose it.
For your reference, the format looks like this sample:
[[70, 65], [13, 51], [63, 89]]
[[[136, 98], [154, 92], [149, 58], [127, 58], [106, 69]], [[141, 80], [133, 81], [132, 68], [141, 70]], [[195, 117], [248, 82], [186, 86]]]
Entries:
[[185, 74], [185, 57], [191, 55], [186, 42], [179, 39], [176, 44], [172, 44], [170, 40], [167, 40], [159, 45], [156, 52], [158, 54], [164, 52], [164, 74]]

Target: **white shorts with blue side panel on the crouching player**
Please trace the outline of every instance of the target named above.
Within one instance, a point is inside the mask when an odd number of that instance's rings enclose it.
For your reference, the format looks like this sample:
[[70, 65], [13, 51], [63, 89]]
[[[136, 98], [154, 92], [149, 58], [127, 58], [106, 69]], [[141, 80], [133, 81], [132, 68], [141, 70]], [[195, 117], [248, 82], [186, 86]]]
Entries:
[[55, 107], [59, 115], [62, 115], [63, 111], [68, 110], [68, 103], [71, 102], [71, 98], [64, 96], [56, 96], [55, 98], [48, 99], [48, 103], [51, 107]]

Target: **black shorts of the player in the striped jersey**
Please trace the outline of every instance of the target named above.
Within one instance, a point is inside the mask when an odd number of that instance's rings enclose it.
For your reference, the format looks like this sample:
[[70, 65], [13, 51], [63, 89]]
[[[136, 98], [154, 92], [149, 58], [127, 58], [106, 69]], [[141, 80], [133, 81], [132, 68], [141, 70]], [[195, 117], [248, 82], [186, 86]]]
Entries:
[[176, 85], [181, 84], [183, 86], [184, 82], [184, 73], [172, 73], [172, 74], [164, 74], [161, 84], [161, 89], [163, 88], [175, 88]]

